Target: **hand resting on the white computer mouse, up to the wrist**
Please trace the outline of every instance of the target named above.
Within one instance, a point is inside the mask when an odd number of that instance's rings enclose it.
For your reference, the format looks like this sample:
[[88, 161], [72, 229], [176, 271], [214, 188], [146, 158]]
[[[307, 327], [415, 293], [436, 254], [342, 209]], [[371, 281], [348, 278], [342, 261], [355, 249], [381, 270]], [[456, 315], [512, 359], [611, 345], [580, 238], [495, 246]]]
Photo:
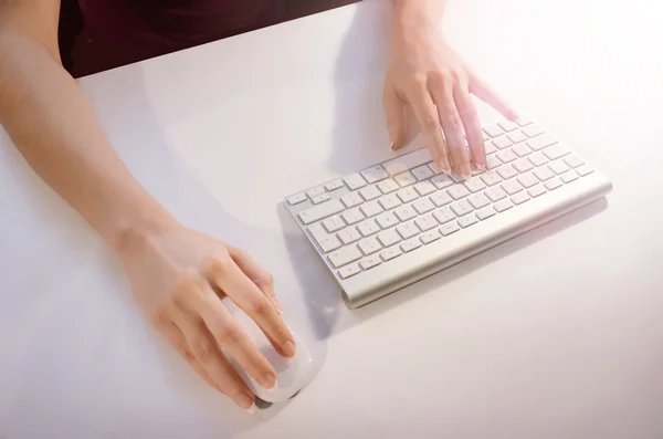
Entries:
[[120, 257], [134, 295], [156, 328], [210, 386], [252, 412], [255, 396], [225, 354], [265, 388], [276, 385], [276, 372], [222, 299], [242, 309], [276, 352], [294, 356], [272, 276], [243, 251], [178, 223], [131, 239]]

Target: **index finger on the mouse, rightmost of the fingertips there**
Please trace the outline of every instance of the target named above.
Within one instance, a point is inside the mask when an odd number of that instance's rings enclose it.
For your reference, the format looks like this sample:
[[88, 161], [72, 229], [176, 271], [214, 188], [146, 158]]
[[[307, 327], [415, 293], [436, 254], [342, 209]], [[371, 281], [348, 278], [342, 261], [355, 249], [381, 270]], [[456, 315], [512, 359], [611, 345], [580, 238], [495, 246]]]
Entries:
[[281, 355], [295, 355], [295, 341], [276, 307], [231, 258], [214, 260], [208, 270], [208, 278], [253, 318]]

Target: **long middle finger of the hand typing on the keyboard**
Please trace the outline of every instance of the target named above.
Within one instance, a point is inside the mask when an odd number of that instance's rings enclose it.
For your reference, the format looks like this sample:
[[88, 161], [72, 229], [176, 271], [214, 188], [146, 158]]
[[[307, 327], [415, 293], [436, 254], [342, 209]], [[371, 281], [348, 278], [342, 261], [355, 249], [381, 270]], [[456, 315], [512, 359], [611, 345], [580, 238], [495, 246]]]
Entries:
[[446, 147], [451, 155], [454, 171], [461, 177], [469, 179], [472, 177], [472, 167], [470, 166], [470, 155], [465, 147], [465, 136], [463, 135], [463, 122], [455, 106], [453, 98], [454, 81], [446, 77], [434, 79], [430, 81], [429, 87], [433, 101], [438, 106], [438, 113]]

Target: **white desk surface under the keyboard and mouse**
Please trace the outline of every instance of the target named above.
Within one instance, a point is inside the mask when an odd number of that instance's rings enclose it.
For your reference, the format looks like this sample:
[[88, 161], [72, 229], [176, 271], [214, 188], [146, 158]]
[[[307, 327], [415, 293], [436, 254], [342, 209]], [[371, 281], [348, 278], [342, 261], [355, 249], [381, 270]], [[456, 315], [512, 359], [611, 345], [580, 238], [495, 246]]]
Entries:
[[253, 417], [208, 389], [1, 137], [0, 438], [663, 437], [663, 33], [645, 3], [452, 2], [457, 49], [614, 191], [356, 312], [277, 205], [388, 156], [387, 1], [83, 79], [140, 181], [275, 273], [318, 372]]

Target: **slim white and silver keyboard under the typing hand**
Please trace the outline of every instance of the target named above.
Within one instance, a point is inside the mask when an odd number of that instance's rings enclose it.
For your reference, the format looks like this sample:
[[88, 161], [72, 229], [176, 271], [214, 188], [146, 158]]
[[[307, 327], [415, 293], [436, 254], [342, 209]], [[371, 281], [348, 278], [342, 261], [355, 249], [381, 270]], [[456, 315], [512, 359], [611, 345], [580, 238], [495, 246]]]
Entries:
[[487, 170], [444, 175], [421, 147], [285, 199], [343, 289], [365, 305], [606, 196], [612, 184], [539, 124], [484, 128]]

